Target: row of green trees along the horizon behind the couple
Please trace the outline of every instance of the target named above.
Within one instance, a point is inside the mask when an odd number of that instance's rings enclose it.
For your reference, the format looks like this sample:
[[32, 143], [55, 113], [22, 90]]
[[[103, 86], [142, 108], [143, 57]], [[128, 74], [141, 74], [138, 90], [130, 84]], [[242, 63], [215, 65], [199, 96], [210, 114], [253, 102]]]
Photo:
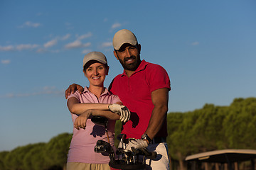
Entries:
[[[186, 169], [186, 156], [215, 149], [256, 149], [256, 98], [235, 98], [230, 106], [206, 104], [185, 113], [168, 113], [171, 169]], [[115, 134], [121, 131], [117, 121]], [[0, 170], [65, 169], [72, 134], [47, 143], [0, 152]], [[117, 140], [115, 145], [117, 146]]]

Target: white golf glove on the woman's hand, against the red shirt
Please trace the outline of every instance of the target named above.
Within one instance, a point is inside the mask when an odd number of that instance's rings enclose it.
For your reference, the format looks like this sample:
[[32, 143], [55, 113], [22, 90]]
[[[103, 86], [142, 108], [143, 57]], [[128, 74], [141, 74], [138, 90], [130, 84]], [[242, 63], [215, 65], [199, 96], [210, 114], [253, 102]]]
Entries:
[[121, 106], [119, 104], [114, 103], [114, 104], [110, 104], [108, 108], [110, 109], [110, 111], [120, 115], [119, 119], [121, 120], [121, 122], [126, 123], [131, 116], [129, 109], [126, 106]]

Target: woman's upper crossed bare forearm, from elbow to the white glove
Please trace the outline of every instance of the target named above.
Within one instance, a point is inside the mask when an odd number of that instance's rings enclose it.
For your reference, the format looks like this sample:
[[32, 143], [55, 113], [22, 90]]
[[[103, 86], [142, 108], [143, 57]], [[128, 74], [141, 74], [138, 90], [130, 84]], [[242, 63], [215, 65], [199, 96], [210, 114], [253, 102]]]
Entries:
[[[117, 102], [117, 104], [122, 105], [122, 102]], [[78, 98], [75, 97], [68, 99], [68, 110], [76, 115], [80, 115], [89, 109], [109, 111], [109, 105], [104, 103], [79, 103]]]

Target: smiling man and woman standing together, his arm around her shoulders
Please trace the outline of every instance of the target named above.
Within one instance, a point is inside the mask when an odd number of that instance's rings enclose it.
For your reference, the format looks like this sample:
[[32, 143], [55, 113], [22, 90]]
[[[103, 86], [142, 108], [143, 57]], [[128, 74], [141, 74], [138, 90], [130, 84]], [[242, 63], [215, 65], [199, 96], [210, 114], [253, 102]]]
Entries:
[[149, 152], [155, 151], [156, 159], [146, 160], [149, 169], [169, 169], [166, 144], [166, 114], [171, 90], [169, 76], [163, 67], [141, 60], [141, 45], [131, 31], [123, 29], [115, 33], [113, 47], [114, 56], [124, 72], [112, 80], [108, 90], [103, 86], [109, 69], [107, 59], [101, 52], [90, 52], [83, 61], [83, 72], [90, 86], [82, 88], [72, 84], [65, 91], [74, 123], [68, 170], [110, 169], [107, 156], [92, 153], [95, 143], [104, 135], [99, 135], [99, 132], [105, 132], [90, 121], [92, 115], [109, 119], [107, 128], [112, 145], [114, 123], [120, 119], [122, 134], [136, 139], [126, 148], [146, 147]]

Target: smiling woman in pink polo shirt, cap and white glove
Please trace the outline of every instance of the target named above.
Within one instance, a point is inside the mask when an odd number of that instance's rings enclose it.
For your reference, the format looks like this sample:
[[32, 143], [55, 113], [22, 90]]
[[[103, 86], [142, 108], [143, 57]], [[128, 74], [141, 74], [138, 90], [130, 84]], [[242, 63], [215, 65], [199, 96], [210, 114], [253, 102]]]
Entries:
[[104, 87], [109, 71], [107, 59], [102, 52], [90, 52], [83, 60], [83, 72], [90, 82], [82, 94], [75, 91], [68, 97], [68, 109], [74, 123], [73, 138], [68, 152], [67, 169], [110, 169], [107, 154], [94, 152], [97, 140], [107, 140], [105, 128], [92, 123], [92, 115], [102, 115], [109, 119], [107, 130], [110, 144], [114, 146], [115, 120], [129, 120], [129, 110], [122, 106], [118, 96], [110, 94]]

